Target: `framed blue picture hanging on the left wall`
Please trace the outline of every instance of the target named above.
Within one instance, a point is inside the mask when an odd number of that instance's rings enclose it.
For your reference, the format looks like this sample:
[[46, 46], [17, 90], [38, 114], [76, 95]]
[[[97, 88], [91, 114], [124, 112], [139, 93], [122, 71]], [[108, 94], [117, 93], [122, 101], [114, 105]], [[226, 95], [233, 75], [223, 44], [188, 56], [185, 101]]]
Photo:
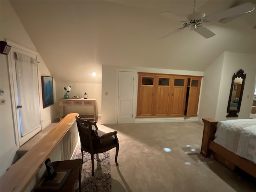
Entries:
[[53, 78], [49, 76], [41, 76], [43, 108], [53, 105]]

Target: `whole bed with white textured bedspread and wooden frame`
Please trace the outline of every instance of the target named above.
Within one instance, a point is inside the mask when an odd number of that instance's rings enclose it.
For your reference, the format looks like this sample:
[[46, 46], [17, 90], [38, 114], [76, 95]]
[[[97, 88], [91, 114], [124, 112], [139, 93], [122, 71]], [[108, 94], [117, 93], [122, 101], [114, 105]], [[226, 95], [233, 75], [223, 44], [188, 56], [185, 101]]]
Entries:
[[235, 170], [244, 170], [256, 178], [256, 119], [218, 122], [203, 119], [201, 152]]

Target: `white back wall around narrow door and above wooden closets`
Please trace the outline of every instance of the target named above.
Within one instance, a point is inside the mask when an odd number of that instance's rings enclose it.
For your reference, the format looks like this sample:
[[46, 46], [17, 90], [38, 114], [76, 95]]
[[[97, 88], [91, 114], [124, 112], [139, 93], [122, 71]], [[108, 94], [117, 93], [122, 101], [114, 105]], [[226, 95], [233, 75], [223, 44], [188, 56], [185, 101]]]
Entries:
[[[102, 124], [115, 124], [117, 123], [117, 104], [118, 100], [117, 94], [117, 78], [116, 70], [119, 69], [118, 66], [102, 65]], [[158, 68], [131, 68], [125, 67], [127, 69], [136, 69], [138, 72], [151, 72], [151, 73], [162, 73], [162, 74], [178, 74], [178, 75], [192, 75], [192, 76], [203, 76], [204, 72], [198, 71], [185, 71], [185, 70], [171, 70], [171, 69], [158, 69]], [[135, 74], [134, 83], [138, 84], [138, 76]], [[137, 86], [136, 86], [137, 87]], [[106, 96], [105, 93], [108, 92]], [[137, 98], [137, 88], [134, 90], [135, 98]], [[136, 101], [134, 101], [136, 102]], [[136, 110], [135, 110], [136, 111]], [[136, 117], [136, 114], [133, 114]]]

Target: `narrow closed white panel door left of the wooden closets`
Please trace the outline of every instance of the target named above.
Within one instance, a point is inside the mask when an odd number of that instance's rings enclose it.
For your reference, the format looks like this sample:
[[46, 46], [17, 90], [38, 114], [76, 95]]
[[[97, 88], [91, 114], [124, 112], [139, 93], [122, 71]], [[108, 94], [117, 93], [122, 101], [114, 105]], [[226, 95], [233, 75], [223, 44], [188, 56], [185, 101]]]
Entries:
[[134, 72], [119, 71], [118, 123], [132, 123]]

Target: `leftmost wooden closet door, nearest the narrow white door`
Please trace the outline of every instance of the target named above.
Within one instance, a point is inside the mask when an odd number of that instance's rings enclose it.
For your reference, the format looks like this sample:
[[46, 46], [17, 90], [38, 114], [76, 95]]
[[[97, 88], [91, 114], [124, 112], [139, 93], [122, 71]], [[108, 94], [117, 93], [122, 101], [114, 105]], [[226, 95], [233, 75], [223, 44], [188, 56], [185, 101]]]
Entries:
[[137, 116], [153, 115], [154, 76], [139, 75]]

